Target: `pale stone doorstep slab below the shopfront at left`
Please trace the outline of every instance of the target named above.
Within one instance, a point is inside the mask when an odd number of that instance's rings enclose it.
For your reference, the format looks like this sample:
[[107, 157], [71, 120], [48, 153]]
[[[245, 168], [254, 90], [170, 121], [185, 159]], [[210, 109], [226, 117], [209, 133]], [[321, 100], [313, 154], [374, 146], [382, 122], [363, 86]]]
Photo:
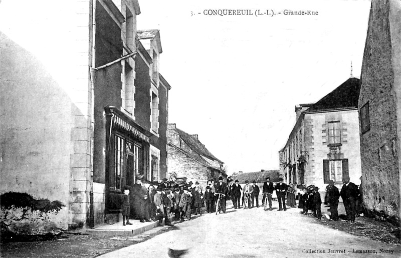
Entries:
[[98, 225], [95, 228], [87, 229], [86, 233], [91, 235], [126, 235], [133, 236], [143, 233], [158, 226], [158, 221], [139, 222], [139, 220], [130, 220], [132, 225], [122, 225], [122, 221], [113, 224]]

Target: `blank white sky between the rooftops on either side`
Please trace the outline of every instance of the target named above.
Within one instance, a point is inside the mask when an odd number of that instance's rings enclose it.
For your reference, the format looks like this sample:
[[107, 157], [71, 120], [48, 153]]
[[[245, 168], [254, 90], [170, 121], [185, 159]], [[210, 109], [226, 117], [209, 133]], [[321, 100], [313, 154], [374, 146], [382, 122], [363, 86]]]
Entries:
[[[360, 76], [369, 0], [140, 0], [138, 29], [159, 28], [169, 122], [229, 173], [278, 169], [295, 105]], [[317, 16], [208, 16], [205, 9], [316, 10]], [[262, 11], [261, 11], [262, 12]]]

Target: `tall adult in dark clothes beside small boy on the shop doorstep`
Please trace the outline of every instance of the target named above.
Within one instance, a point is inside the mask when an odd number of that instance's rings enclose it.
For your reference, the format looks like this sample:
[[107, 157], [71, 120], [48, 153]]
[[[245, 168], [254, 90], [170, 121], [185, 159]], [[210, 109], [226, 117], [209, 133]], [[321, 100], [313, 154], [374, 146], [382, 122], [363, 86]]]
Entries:
[[[146, 204], [148, 203], [148, 190], [142, 184], [142, 176], [136, 175], [135, 184], [132, 188], [132, 206], [133, 206], [133, 214], [135, 214], [136, 218], [139, 218], [140, 222], [150, 221], [149, 212], [146, 212], [146, 208], [148, 207]], [[130, 192], [131, 192], [130, 191]]]

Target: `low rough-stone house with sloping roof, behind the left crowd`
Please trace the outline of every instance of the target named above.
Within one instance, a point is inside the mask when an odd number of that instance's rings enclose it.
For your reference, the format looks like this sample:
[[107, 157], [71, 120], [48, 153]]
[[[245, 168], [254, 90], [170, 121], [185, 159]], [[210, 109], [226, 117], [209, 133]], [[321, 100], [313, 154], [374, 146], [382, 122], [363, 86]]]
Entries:
[[175, 123], [168, 124], [168, 173], [175, 177], [186, 177], [192, 182], [206, 186], [211, 178], [219, 176], [227, 180], [223, 171], [224, 162], [215, 157], [199, 141], [197, 134], [188, 134], [178, 129]]

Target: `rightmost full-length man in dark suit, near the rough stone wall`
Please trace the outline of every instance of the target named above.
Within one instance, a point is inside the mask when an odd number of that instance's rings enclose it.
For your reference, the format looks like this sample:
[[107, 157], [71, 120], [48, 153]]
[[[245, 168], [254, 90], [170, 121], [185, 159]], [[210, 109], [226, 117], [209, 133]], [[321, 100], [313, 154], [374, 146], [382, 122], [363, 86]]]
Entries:
[[355, 221], [355, 201], [359, 195], [358, 186], [349, 181], [349, 176], [344, 176], [340, 195], [344, 203], [345, 212], [347, 213], [347, 220]]

